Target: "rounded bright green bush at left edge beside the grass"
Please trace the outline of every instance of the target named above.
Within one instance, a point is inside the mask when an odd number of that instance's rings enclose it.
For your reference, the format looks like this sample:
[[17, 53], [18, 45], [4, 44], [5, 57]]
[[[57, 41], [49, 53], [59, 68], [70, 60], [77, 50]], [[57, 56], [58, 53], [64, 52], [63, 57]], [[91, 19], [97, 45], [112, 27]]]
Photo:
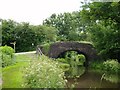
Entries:
[[9, 46], [0, 47], [2, 67], [12, 65], [14, 61], [14, 49]]

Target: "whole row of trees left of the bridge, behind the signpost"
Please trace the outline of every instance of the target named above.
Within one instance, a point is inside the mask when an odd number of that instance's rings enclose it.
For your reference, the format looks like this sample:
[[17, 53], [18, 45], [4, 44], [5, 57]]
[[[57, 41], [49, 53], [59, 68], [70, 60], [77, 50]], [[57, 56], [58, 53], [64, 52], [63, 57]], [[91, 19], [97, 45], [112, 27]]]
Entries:
[[13, 47], [16, 41], [16, 51], [35, 50], [36, 46], [45, 42], [54, 42], [57, 29], [45, 25], [33, 26], [29, 23], [17, 23], [13, 20], [2, 20], [2, 45]]

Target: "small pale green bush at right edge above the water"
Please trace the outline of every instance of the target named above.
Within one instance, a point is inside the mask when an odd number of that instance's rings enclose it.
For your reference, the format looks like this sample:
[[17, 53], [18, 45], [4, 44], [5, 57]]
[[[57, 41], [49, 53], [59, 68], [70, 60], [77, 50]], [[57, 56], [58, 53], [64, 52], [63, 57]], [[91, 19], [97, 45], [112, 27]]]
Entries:
[[110, 72], [118, 72], [119, 70], [119, 62], [116, 59], [110, 59], [103, 62], [104, 69]]

